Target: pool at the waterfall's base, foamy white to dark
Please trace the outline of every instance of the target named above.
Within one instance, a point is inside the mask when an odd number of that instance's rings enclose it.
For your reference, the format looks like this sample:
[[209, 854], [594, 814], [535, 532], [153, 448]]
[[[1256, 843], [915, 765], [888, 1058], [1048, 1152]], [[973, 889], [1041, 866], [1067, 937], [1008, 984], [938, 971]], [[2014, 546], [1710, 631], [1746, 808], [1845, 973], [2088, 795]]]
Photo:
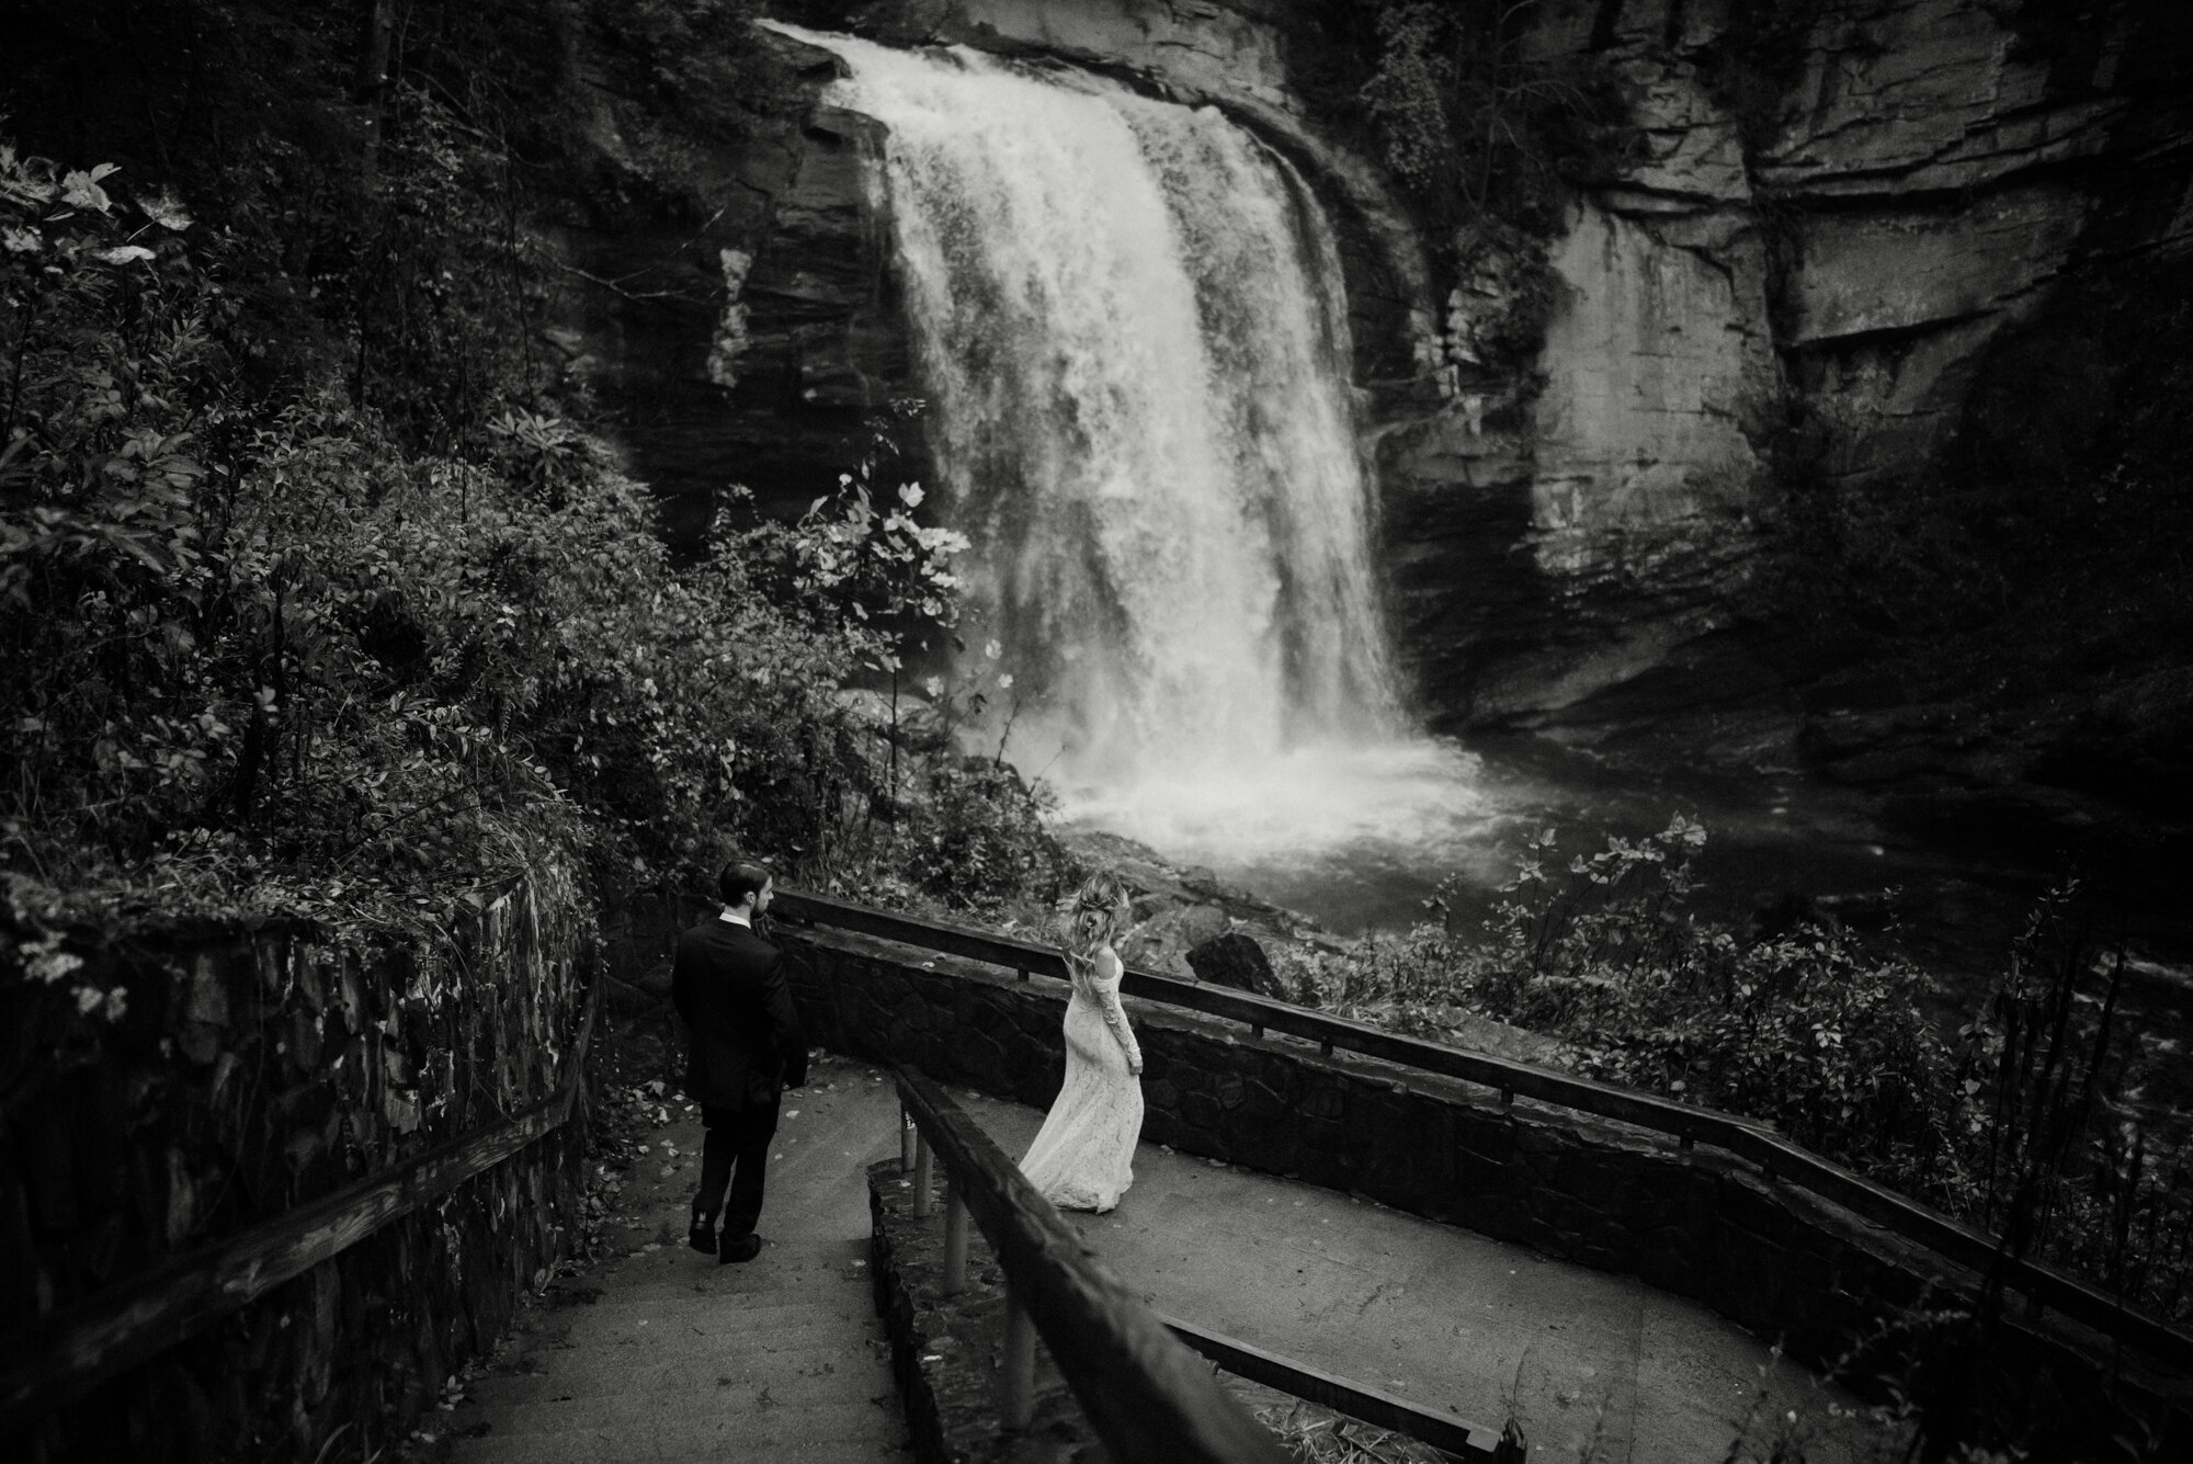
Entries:
[[2048, 870], [1985, 863], [1879, 822], [1864, 796], [1803, 776], [1614, 769], [1542, 739], [1322, 747], [1276, 765], [1206, 765], [1064, 791], [1070, 824], [1149, 844], [1180, 866], [1300, 910], [1340, 934], [1425, 918], [1454, 879], [1461, 920], [1513, 879], [1526, 839], [1561, 853], [1704, 824], [1695, 907], [1730, 920], [1800, 896], [1904, 920], [1908, 945], [1952, 967], [2000, 964]]

